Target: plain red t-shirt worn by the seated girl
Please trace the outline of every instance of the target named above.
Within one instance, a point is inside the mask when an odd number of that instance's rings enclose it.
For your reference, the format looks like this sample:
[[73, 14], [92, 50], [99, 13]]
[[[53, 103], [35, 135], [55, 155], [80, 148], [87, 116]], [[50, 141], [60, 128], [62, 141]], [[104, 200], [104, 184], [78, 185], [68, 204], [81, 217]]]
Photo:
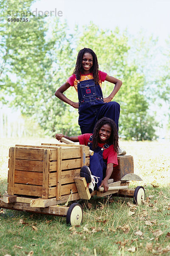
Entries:
[[[88, 145], [88, 141], [90, 136], [93, 134], [82, 134], [78, 136], [79, 139], [79, 143], [80, 145]], [[103, 147], [103, 145], [105, 145], [105, 143], [98, 143], [99, 147]], [[114, 146], [113, 144], [109, 146], [109, 148], [105, 148], [103, 150], [103, 158], [107, 160], [107, 163], [113, 163], [113, 166], [117, 166], [118, 162], [117, 162], [117, 153], [114, 150]]]

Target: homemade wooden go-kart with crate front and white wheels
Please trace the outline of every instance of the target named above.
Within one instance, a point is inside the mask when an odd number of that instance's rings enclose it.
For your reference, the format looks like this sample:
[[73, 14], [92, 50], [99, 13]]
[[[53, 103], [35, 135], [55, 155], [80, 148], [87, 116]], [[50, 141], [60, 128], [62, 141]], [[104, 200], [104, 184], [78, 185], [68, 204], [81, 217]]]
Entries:
[[1, 208], [66, 216], [67, 224], [74, 226], [82, 222], [82, 206], [73, 203], [68, 207], [69, 201], [113, 194], [142, 204], [144, 188], [128, 189], [130, 180], [142, 180], [133, 173], [132, 156], [118, 156], [108, 192], [101, 187], [90, 194], [79, 172], [82, 166], [89, 166], [93, 151], [65, 138], [62, 141], [67, 144], [15, 145], [9, 149], [8, 194], [0, 198]]

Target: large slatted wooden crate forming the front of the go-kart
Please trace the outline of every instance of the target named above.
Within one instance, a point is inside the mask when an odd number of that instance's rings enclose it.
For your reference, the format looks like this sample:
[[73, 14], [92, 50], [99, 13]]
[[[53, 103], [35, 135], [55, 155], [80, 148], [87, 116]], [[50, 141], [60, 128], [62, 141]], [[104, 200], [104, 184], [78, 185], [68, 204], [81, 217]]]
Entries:
[[71, 189], [78, 195], [74, 177], [83, 165], [89, 165], [85, 145], [16, 145], [9, 149], [8, 195], [60, 200]]

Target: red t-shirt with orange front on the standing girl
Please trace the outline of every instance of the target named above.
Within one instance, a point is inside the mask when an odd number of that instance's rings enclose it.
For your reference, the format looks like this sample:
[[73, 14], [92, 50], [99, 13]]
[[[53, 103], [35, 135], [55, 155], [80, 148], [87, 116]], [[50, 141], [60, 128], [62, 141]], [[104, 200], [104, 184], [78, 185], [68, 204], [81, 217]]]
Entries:
[[[107, 73], [102, 72], [102, 71], [99, 70], [99, 84], [100, 84], [100, 87], [102, 87], [102, 82], [105, 81], [106, 76], [107, 76]], [[85, 80], [89, 80], [89, 79], [93, 79], [93, 74], [92, 74], [92, 73], [90, 73], [90, 74], [88, 74], [88, 75], [81, 75], [79, 81], [85, 81]], [[76, 75], [70, 76], [70, 77], [67, 79], [67, 81], [68, 81], [68, 83], [69, 83], [71, 86], [74, 86], [74, 88], [75, 88], [76, 91], [77, 91], [77, 82], [78, 82], [78, 80], [76, 79]]]

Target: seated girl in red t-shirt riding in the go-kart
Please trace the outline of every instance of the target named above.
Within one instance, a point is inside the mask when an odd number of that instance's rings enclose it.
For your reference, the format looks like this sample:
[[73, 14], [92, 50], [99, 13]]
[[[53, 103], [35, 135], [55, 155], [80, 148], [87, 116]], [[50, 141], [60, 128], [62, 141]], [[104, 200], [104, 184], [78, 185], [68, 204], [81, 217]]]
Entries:
[[80, 177], [85, 177], [89, 192], [104, 186], [108, 191], [108, 179], [111, 177], [113, 167], [118, 165], [117, 153], [119, 151], [118, 132], [116, 123], [103, 117], [94, 127], [94, 134], [82, 134], [76, 137], [68, 137], [63, 134], [55, 135], [57, 140], [65, 137], [68, 140], [79, 142], [80, 145], [88, 145], [94, 151], [90, 157], [90, 165], [82, 166]]

